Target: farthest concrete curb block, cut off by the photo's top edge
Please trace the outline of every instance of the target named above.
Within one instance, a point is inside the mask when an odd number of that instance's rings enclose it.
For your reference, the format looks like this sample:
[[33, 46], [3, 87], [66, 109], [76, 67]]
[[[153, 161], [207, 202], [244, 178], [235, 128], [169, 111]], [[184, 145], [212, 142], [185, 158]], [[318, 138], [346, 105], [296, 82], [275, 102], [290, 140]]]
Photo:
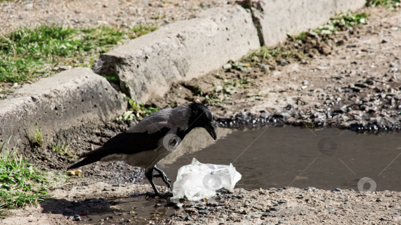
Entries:
[[366, 0], [245, 0], [239, 3], [251, 9], [260, 44], [274, 46], [285, 41], [287, 34], [298, 35], [327, 23], [340, 12], [362, 8]]

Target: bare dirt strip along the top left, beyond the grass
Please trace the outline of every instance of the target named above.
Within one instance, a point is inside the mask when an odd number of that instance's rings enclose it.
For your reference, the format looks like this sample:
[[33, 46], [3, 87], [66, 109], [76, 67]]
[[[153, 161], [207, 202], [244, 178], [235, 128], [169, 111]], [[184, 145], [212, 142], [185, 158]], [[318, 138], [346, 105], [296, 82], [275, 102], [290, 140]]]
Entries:
[[62, 23], [70, 27], [109, 25], [130, 28], [149, 23], [160, 26], [196, 17], [203, 9], [225, 3], [227, 1], [220, 0], [1, 1], [0, 35], [38, 23]]

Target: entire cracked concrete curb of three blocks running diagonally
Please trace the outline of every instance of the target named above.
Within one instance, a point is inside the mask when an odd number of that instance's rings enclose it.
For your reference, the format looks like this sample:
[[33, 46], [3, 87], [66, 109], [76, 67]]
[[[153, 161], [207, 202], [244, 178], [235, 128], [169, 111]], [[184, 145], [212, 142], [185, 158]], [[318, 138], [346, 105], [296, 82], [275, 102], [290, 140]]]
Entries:
[[[117, 75], [120, 89], [142, 102], [162, 96], [173, 82], [199, 77], [240, 59], [250, 49], [275, 45], [324, 24], [365, 0], [251, 0], [203, 11], [131, 40], [103, 55], [101, 75]], [[251, 12], [250, 12], [251, 11]], [[89, 122], [107, 121], [126, 109], [123, 97], [101, 76], [75, 68], [27, 85], [0, 101], [0, 140], [17, 148], [37, 122], [46, 140]], [[1, 142], [0, 142], [1, 144]]]

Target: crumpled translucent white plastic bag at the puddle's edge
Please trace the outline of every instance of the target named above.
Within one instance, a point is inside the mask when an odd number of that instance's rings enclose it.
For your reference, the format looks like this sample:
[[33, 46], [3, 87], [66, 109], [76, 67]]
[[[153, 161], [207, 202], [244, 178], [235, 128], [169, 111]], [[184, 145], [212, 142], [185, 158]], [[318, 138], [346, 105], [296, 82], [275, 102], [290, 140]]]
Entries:
[[210, 198], [216, 194], [216, 190], [221, 188], [234, 189], [241, 177], [231, 163], [229, 166], [203, 164], [193, 158], [190, 165], [178, 170], [177, 180], [173, 185], [173, 199], [184, 198], [184, 196], [189, 201]]

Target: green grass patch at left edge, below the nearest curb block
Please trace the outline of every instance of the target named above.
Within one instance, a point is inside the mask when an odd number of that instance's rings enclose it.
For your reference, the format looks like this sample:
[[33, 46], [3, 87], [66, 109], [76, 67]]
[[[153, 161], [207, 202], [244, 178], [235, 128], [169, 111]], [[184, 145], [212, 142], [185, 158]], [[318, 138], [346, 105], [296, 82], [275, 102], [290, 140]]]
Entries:
[[59, 180], [58, 176], [38, 170], [4, 144], [0, 146], [0, 218], [9, 215], [9, 209], [37, 206]]

